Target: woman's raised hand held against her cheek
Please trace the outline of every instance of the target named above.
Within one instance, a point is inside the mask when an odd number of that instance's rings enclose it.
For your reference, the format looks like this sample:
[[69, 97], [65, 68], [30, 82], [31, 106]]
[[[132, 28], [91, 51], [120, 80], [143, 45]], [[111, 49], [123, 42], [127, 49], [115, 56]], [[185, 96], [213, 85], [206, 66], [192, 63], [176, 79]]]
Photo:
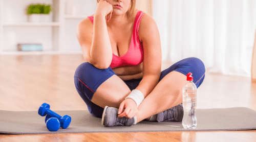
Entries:
[[112, 16], [112, 12], [113, 6], [110, 3], [106, 2], [106, 0], [101, 0], [97, 5], [95, 14], [102, 14], [103, 16], [105, 16], [106, 21], [109, 21]]

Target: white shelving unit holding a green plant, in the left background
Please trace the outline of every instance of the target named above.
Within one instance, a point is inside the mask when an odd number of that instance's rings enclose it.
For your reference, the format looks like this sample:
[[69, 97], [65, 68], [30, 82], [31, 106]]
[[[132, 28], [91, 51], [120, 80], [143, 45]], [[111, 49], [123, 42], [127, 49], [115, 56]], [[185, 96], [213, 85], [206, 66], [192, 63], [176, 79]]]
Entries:
[[[77, 15], [67, 15], [66, 2], [78, 8]], [[53, 22], [28, 22], [25, 13], [31, 3], [52, 5]], [[76, 38], [78, 23], [96, 10], [92, 0], [0, 0], [0, 55], [82, 53]], [[41, 52], [19, 52], [18, 43], [40, 43]]]

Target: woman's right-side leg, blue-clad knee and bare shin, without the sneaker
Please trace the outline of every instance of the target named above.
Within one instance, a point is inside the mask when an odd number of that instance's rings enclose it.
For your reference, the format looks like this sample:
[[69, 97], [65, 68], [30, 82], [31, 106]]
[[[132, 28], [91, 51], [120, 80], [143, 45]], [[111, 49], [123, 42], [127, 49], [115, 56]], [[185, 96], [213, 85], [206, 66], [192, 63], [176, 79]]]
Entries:
[[183, 59], [161, 73], [160, 82], [139, 105], [137, 122], [182, 103], [182, 88], [186, 74], [192, 73], [199, 87], [204, 80], [205, 67], [198, 58]]

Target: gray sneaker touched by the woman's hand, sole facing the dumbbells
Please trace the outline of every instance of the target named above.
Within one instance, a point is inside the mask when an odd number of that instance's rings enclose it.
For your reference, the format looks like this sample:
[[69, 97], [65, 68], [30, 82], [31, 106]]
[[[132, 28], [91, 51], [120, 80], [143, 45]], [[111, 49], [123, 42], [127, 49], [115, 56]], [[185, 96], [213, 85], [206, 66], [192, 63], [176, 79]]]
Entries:
[[134, 118], [118, 117], [118, 109], [105, 106], [101, 124], [104, 126], [131, 126], [134, 124]]

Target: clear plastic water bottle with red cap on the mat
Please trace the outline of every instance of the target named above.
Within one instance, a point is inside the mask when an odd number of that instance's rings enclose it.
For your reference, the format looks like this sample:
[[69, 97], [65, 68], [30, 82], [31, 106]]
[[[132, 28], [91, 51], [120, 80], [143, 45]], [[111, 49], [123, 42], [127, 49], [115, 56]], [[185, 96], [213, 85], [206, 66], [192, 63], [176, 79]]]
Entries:
[[183, 87], [182, 91], [184, 110], [182, 126], [185, 129], [195, 129], [197, 127], [197, 86], [193, 82], [192, 73], [187, 74], [187, 84]]

